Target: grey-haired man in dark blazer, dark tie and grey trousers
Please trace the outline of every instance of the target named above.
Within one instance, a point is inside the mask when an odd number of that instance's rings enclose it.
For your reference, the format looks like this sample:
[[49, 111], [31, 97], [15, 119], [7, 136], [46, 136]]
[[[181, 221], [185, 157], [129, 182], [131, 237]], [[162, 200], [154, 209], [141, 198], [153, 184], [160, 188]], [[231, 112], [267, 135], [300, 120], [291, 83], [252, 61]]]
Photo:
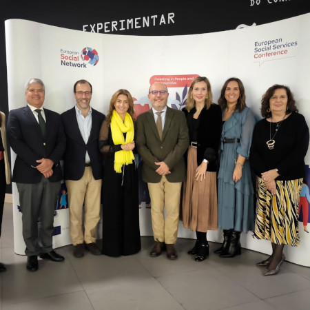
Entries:
[[63, 178], [59, 161], [65, 151], [65, 134], [60, 115], [42, 107], [43, 81], [30, 79], [25, 85], [25, 98], [26, 107], [10, 111], [7, 132], [17, 154], [12, 181], [17, 183], [23, 214], [26, 267], [37, 271], [38, 255], [56, 262], [65, 259], [52, 249], [54, 207]]

